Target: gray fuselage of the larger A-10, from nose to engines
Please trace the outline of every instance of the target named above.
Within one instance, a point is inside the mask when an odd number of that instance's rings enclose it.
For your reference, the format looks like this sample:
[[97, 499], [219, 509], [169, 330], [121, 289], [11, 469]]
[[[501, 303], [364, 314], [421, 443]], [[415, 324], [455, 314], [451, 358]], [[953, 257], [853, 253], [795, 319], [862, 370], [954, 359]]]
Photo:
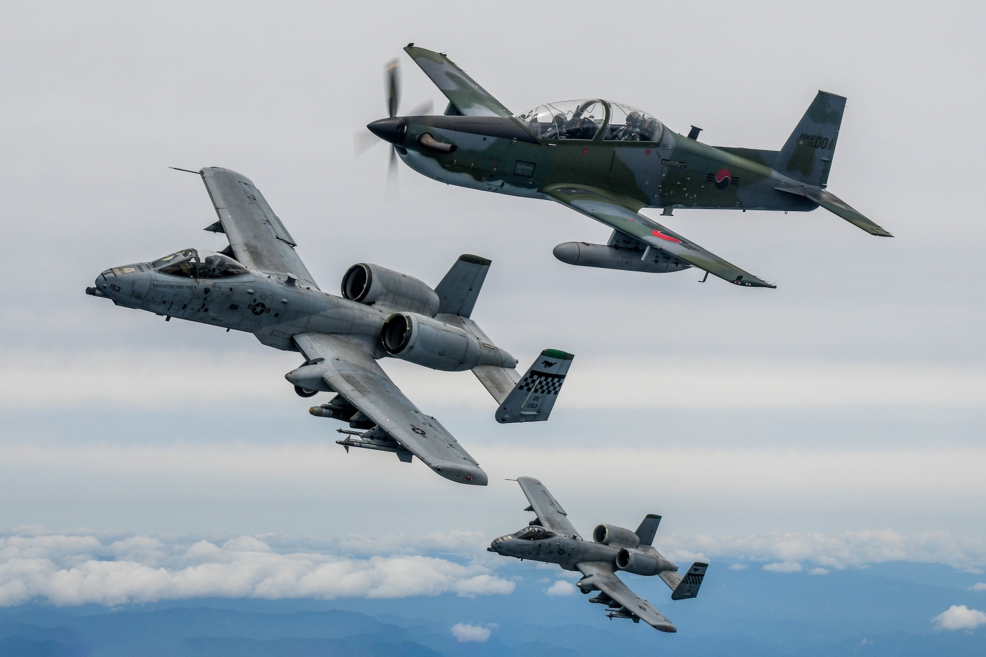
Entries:
[[139, 262], [107, 269], [96, 288], [117, 306], [243, 330], [279, 349], [293, 349], [291, 336], [298, 333], [341, 333], [374, 357], [386, 355], [380, 333], [391, 309], [343, 299], [282, 274], [250, 270], [196, 279]]

